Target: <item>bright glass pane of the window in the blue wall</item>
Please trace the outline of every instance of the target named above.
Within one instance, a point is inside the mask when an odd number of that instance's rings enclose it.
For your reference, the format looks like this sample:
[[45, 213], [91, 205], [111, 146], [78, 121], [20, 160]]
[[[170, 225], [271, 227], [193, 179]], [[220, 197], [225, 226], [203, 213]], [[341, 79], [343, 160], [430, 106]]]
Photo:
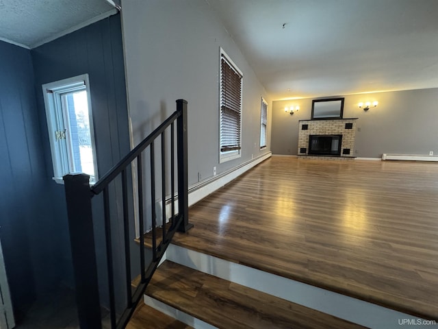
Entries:
[[70, 157], [70, 171], [94, 177], [93, 150], [90, 132], [90, 114], [86, 90], [63, 95], [66, 99], [66, 121]]

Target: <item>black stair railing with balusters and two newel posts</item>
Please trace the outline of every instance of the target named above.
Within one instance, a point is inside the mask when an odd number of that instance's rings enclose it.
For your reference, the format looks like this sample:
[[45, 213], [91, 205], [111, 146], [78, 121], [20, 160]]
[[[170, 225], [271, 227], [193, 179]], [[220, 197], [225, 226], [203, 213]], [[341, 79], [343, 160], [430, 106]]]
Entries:
[[[175, 165], [175, 121], [177, 130], [177, 161]], [[170, 130], [170, 143], [166, 143], [166, 130]], [[155, 141], [158, 141], [155, 143]], [[99, 297], [99, 279], [98, 279], [98, 262], [96, 256], [96, 245], [94, 241], [93, 231], [93, 211], [92, 197], [94, 195], [103, 194], [103, 219], [105, 226], [105, 249], [106, 249], [106, 264], [107, 264], [107, 291], [108, 304], [110, 308], [110, 328], [122, 329], [125, 328], [138, 302], [142, 299], [142, 295], [147, 284], [151, 280], [155, 269], [159, 264], [166, 248], [168, 247], [172, 236], [176, 231], [186, 232], [192, 225], [188, 222], [188, 148], [187, 148], [187, 101], [183, 99], [177, 100], [177, 110], [166, 119], [156, 130], [146, 137], [137, 147], [135, 147], [125, 158], [120, 160], [108, 173], [94, 184], [89, 185], [89, 176], [83, 173], [70, 174], [64, 176], [65, 193], [68, 212], [68, 226], [70, 229], [70, 243], [73, 256], [73, 269], [75, 274], [75, 288], [77, 296], [77, 308], [79, 316], [79, 325], [81, 329], [101, 329], [101, 300]], [[161, 199], [162, 199], [162, 236], [158, 243], [157, 223], [155, 213], [155, 147], [159, 144], [161, 147]], [[165, 147], [170, 145], [170, 171], [166, 171], [166, 151]], [[146, 158], [144, 152], [149, 149], [150, 158], [150, 178], [149, 184], [144, 184], [144, 163], [142, 158]], [[140, 232], [140, 247], [138, 250], [140, 267], [140, 284], [136, 289], [131, 288], [131, 245], [130, 238], [129, 214], [133, 214], [133, 202], [131, 202], [131, 212], [128, 197], [128, 176], [131, 171], [132, 164], [136, 164], [136, 183], [138, 195], [138, 230]], [[122, 190], [122, 211], [121, 216], [114, 215], [111, 211], [111, 202], [109, 193], [109, 185], [115, 179], [121, 180]], [[177, 206], [175, 210], [175, 178], [177, 178]], [[170, 182], [168, 181], [170, 180]], [[170, 214], [166, 214], [166, 184], [170, 185]], [[148, 185], [148, 186], [146, 186]], [[144, 196], [149, 188], [151, 198], [150, 214], [146, 214], [144, 210]], [[145, 260], [144, 251], [144, 219], [147, 215], [151, 215], [152, 226], [152, 256], [148, 263]], [[117, 221], [123, 221], [123, 240], [125, 253], [125, 269], [123, 285], [125, 285], [125, 306], [121, 312], [116, 311], [116, 296], [114, 293], [114, 264], [113, 246], [112, 246], [112, 217], [117, 218]], [[165, 224], [167, 222], [167, 225]], [[135, 245], [134, 245], [135, 246]], [[100, 262], [101, 263], [101, 262]]]

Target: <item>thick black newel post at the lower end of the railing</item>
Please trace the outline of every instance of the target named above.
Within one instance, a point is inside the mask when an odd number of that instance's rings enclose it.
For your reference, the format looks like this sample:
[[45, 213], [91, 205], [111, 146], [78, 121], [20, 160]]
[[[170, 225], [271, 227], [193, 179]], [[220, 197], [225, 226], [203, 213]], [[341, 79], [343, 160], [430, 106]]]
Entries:
[[101, 329], [89, 180], [83, 173], [64, 176], [79, 326]]

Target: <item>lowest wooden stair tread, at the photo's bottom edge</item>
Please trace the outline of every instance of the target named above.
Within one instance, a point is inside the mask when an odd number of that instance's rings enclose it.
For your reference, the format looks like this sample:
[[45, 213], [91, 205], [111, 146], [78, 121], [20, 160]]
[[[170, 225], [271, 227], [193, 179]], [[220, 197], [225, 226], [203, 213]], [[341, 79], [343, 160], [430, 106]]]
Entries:
[[143, 302], [138, 305], [126, 329], [193, 329]]

